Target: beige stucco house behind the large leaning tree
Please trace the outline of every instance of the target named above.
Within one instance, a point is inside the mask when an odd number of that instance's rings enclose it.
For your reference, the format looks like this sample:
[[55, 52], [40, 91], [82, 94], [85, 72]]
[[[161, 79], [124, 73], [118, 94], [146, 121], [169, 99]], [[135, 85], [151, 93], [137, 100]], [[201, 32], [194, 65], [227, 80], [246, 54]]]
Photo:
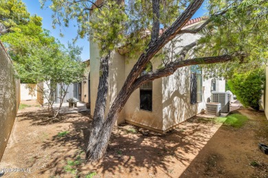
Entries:
[[[189, 21], [184, 29], [201, 25], [204, 18]], [[190, 44], [199, 35], [183, 34], [178, 46]], [[98, 44], [90, 42], [91, 59], [91, 116], [95, 109], [100, 56]], [[127, 62], [126, 62], [127, 61]], [[109, 62], [109, 91], [106, 114], [116, 95], [129, 75], [135, 59], [127, 53], [113, 51]], [[161, 60], [152, 61], [152, 70], [157, 69]], [[205, 110], [205, 102], [209, 101], [211, 91], [225, 92], [225, 80], [204, 79], [204, 71], [194, 66], [179, 68], [173, 75], [155, 79], [135, 90], [120, 112], [117, 123], [131, 123], [152, 131], [164, 133], [179, 123]]]

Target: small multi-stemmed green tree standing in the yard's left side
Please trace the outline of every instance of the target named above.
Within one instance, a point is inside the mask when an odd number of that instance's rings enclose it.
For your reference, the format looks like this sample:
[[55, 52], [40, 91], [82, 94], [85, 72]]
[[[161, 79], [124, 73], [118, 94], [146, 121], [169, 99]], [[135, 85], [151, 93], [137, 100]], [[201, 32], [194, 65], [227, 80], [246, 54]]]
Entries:
[[[84, 79], [85, 63], [80, 59], [80, 51], [79, 47], [74, 47], [71, 44], [69, 44], [68, 49], [65, 49], [63, 45], [54, 48], [34, 48], [35, 58], [32, 62], [27, 62], [27, 65], [30, 65], [35, 73], [36, 83], [44, 82], [48, 87], [48, 90], [43, 90], [43, 94], [48, 101], [48, 112], [54, 118], [60, 112], [69, 85], [79, 83]], [[18, 66], [18, 68], [24, 70], [25, 66]], [[26, 71], [22, 73], [26, 74], [27, 77], [32, 74]], [[53, 105], [56, 88], [59, 91], [60, 105], [55, 111]]]

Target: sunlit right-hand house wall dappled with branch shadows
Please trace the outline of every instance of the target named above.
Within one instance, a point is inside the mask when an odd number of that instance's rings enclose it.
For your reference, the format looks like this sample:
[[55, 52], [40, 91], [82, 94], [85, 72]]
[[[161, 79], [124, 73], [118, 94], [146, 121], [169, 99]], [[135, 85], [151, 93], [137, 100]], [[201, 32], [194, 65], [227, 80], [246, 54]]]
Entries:
[[[205, 71], [203, 71], [205, 73]], [[202, 101], [190, 103], [190, 66], [179, 68], [173, 75], [163, 78], [163, 128], [162, 131], [203, 112], [205, 103], [211, 97], [212, 79], [202, 79]], [[225, 91], [225, 80], [216, 80], [216, 91]]]

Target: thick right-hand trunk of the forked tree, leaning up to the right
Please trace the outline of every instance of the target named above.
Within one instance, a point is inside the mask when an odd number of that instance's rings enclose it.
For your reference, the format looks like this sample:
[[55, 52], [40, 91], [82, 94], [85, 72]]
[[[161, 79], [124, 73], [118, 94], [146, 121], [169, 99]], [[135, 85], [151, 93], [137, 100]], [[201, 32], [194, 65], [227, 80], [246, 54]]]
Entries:
[[[153, 1], [153, 3], [154, 2], [157, 3], [157, 0]], [[202, 3], [203, 0], [192, 1], [192, 3], [188, 5], [188, 8], [186, 8], [186, 10], [179, 16], [179, 18], [177, 18], [175, 23], [173, 23], [171, 27], [169, 27], [159, 38], [155, 35], [159, 33], [155, 33], [155, 30], [159, 29], [159, 27], [153, 28], [154, 35], [152, 36], [153, 38], [151, 38], [150, 43], [148, 44], [148, 48], [144, 53], [142, 53], [142, 55], [140, 55], [136, 64], [133, 66], [133, 69], [131, 70], [131, 73], [129, 73], [129, 76], [126, 78], [122, 89], [115, 98], [115, 101], [113, 101], [113, 104], [111, 105], [111, 108], [109, 110], [109, 113], [107, 114], [107, 117], [104, 120], [104, 123], [102, 123], [101, 127], [100, 125], [98, 125], [98, 131], [94, 132], [94, 134], [96, 134], [94, 135], [94, 138], [96, 139], [91, 141], [92, 138], [89, 138], [89, 145], [87, 147], [88, 162], [96, 162], [102, 157], [104, 157], [104, 153], [106, 152], [108, 147], [113, 125], [115, 125], [115, 121], [118, 118], [118, 114], [124, 107], [126, 101], [129, 99], [131, 93], [140, 86], [138, 84], [135, 84], [135, 80], [137, 79], [137, 77], [139, 77], [139, 74], [142, 72], [144, 66], [146, 66], [150, 59], [152, 59], [153, 56], [162, 47], [164, 47], [166, 43], [168, 43], [170, 40], [175, 38], [177, 34], [179, 34], [181, 28], [190, 20], [192, 15], [197, 12]], [[157, 7], [157, 5], [153, 4], [153, 8], [155, 7]], [[154, 10], [153, 13], [157, 13], [157, 10]], [[154, 14], [154, 16], [157, 17], [157, 14]], [[155, 18], [154, 25], [159, 25], [159, 23], [157, 23], [157, 18]], [[100, 103], [96, 103], [96, 106]], [[95, 118], [93, 118], [93, 120], [95, 120]], [[93, 126], [91, 128], [93, 128]]]

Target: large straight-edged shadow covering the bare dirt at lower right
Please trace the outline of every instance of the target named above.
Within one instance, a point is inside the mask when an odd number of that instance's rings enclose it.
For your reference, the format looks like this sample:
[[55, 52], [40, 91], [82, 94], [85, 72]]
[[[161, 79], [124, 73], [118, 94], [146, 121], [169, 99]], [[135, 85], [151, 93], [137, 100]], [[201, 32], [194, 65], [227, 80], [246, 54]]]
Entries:
[[248, 120], [238, 128], [221, 125], [180, 177], [268, 176], [268, 155], [258, 148], [258, 142], [268, 143], [265, 113], [241, 107], [230, 114], [243, 114]]

